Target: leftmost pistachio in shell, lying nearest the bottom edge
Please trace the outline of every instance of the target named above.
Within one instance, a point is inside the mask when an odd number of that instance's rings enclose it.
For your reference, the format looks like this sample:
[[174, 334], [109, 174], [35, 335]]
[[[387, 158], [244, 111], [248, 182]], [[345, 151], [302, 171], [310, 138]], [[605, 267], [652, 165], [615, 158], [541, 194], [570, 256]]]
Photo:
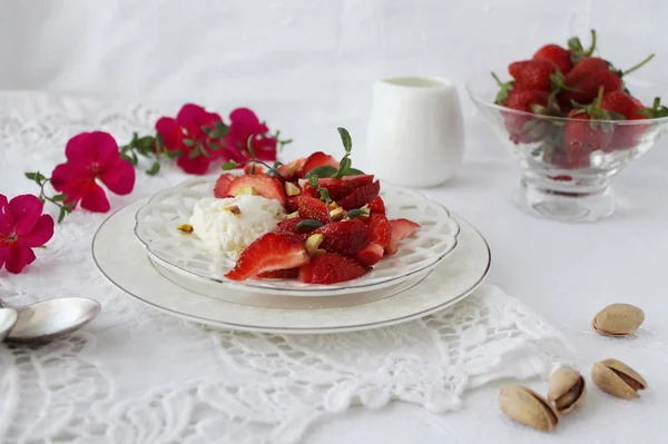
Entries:
[[557, 411], [542, 396], [520, 385], [501, 387], [499, 407], [511, 420], [543, 432], [559, 422]]

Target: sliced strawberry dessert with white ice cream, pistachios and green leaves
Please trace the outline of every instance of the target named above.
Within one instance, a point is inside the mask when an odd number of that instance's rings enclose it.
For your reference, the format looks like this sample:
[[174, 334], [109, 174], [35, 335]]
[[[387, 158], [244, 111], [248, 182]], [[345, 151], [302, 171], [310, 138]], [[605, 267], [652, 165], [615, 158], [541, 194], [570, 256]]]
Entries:
[[350, 135], [338, 131], [341, 161], [317, 151], [285, 165], [223, 166], [244, 174], [224, 172], [215, 197], [199, 201], [190, 221], [205, 248], [236, 259], [225, 277], [352, 280], [418, 231], [411, 220], [387, 218], [381, 182], [352, 167]]

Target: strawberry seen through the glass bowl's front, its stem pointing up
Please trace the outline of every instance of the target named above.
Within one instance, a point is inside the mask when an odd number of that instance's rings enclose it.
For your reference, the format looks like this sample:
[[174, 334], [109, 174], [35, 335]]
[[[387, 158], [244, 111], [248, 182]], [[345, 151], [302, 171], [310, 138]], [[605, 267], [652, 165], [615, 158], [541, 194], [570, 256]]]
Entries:
[[563, 129], [563, 149], [568, 165], [581, 164], [591, 152], [607, 148], [612, 140], [613, 126], [609, 120], [613, 116], [601, 107], [603, 91], [605, 88], [600, 87], [592, 105], [572, 109], [568, 114], [569, 120]]

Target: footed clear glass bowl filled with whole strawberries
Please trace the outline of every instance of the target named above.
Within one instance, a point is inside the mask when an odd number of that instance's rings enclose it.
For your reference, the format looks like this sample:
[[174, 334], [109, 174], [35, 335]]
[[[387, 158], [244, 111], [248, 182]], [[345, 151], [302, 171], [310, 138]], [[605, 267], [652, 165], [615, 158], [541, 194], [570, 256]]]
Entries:
[[490, 72], [472, 77], [469, 96], [517, 158], [518, 204], [564, 221], [611, 215], [611, 178], [647, 152], [668, 130], [665, 88], [627, 78], [627, 70], [595, 57], [572, 38], [547, 45], [531, 59], [509, 65], [509, 81]]

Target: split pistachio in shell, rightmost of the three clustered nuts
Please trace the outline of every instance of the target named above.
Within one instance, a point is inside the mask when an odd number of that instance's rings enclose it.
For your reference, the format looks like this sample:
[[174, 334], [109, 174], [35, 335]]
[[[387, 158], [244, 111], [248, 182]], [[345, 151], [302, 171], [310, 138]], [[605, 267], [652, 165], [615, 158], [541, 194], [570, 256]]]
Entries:
[[638, 391], [647, 387], [642, 376], [617, 359], [605, 359], [591, 367], [591, 381], [606, 393], [617, 397], [639, 397]]

